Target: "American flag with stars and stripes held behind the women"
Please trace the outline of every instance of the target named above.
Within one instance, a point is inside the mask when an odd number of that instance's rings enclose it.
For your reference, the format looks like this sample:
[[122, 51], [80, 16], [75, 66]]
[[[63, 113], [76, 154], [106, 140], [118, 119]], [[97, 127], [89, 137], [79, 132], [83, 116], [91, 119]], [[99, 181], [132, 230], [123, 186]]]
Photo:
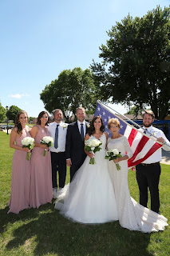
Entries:
[[109, 107], [103, 105], [101, 102], [97, 103], [97, 108], [94, 116], [100, 116], [105, 125], [105, 131], [112, 136], [109, 128], [108, 121], [110, 118], [117, 118], [120, 121], [121, 128], [119, 130], [120, 134], [125, 135], [128, 139], [128, 143], [132, 149], [132, 158], [128, 159], [128, 167], [136, 166], [140, 162], [144, 162], [148, 157], [150, 157], [156, 150], [158, 150], [162, 145], [156, 142], [155, 138], [150, 137], [147, 134], [137, 130], [132, 125], [125, 122], [117, 114], [113, 114], [113, 110]]

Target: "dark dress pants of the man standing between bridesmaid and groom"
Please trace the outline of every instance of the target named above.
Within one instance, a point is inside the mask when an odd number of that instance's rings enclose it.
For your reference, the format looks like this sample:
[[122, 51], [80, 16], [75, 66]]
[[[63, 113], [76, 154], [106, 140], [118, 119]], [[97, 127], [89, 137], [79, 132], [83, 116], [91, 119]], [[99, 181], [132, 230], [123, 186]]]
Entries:
[[57, 187], [57, 171], [59, 175], [59, 188], [64, 187], [66, 178], [65, 152], [51, 152], [51, 166], [53, 187]]

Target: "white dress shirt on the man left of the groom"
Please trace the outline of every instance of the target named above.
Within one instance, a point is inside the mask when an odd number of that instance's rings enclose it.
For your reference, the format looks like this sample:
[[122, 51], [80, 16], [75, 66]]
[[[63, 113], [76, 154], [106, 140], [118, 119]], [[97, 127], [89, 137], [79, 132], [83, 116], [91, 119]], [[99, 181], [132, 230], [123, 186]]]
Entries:
[[[56, 127], [58, 126], [58, 147], [57, 149], [54, 147], [55, 142], [55, 133]], [[65, 141], [66, 141], [66, 134], [67, 134], [67, 126], [68, 123], [65, 122], [51, 122], [48, 126], [49, 134], [53, 138], [53, 146], [50, 146], [49, 149], [51, 152], [65, 152]]]

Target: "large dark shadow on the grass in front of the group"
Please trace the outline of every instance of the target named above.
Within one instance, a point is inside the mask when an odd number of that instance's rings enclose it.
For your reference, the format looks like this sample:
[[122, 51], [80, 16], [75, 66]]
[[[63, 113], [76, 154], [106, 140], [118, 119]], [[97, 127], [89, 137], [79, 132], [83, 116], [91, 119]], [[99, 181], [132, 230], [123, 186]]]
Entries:
[[30, 214], [19, 217], [28, 221], [29, 215], [31, 218], [38, 218], [15, 229], [14, 239], [8, 242], [6, 250], [12, 250], [34, 239], [34, 255], [152, 255], [147, 251], [150, 234], [123, 229], [118, 222], [101, 225], [73, 223], [61, 216], [58, 210], [54, 210], [53, 204], [50, 209], [48, 206], [50, 212], [45, 212], [46, 207], [38, 209], [39, 216], [35, 210], [30, 209]]

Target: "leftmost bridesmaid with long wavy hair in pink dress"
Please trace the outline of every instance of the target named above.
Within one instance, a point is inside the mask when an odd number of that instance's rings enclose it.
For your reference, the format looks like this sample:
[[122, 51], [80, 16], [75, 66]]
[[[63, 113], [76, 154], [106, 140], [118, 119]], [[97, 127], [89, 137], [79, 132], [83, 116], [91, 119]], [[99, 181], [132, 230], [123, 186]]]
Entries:
[[28, 148], [22, 148], [22, 139], [30, 136], [29, 127], [26, 126], [28, 115], [26, 111], [19, 111], [15, 126], [10, 134], [10, 147], [14, 148], [12, 161], [11, 196], [8, 206], [10, 210], [18, 214], [20, 210], [30, 207], [30, 161], [26, 160]]

